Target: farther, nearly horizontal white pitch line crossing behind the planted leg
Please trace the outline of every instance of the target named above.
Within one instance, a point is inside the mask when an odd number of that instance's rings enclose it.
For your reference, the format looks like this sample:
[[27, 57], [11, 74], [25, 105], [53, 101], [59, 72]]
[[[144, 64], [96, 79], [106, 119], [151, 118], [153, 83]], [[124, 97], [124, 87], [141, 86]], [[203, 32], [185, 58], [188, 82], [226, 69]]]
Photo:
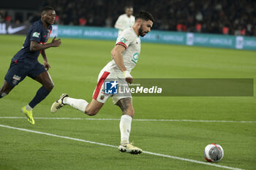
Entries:
[[[26, 117], [0, 117], [0, 119], [23, 119]], [[116, 120], [112, 118], [79, 118], [79, 117], [34, 117], [34, 119], [45, 120]], [[235, 121], [235, 120], [175, 120], [175, 119], [133, 119], [133, 121], [151, 122], [202, 122], [202, 123], [256, 123], [256, 121]]]

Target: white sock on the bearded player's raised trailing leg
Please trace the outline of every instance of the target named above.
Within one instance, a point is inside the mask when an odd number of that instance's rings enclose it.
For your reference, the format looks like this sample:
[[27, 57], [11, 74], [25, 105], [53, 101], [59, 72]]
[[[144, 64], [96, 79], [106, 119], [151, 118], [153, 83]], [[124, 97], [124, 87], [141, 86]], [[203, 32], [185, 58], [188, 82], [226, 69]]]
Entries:
[[86, 112], [86, 107], [88, 105], [88, 102], [83, 99], [65, 97], [63, 99], [63, 104], [69, 104], [75, 109], [79, 109], [81, 112]]

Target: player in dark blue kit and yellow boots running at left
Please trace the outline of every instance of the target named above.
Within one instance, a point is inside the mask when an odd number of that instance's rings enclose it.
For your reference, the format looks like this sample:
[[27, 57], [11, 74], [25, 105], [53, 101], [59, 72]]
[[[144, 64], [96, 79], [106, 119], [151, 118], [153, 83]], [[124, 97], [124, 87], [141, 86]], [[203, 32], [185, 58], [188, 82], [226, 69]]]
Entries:
[[[48, 96], [54, 86], [53, 80], [51, 80], [48, 73], [50, 65], [46, 58], [45, 49], [61, 45], [61, 39], [56, 39], [56, 36], [52, 42], [46, 44], [50, 37], [51, 25], [53, 25], [55, 17], [56, 12], [53, 7], [42, 8], [41, 20], [37, 20], [29, 28], [23, 48], [12, 58], [10, 68], [4, 77], [4, 85], [0, 89], [0, 98], [7, 96], [26, 76], [42, 84], [36, 96], [21, 109], [31, 124], [34, 124], [32, 109]], [[37, 61], [40, 53], [44, 59], [44, 65]]]

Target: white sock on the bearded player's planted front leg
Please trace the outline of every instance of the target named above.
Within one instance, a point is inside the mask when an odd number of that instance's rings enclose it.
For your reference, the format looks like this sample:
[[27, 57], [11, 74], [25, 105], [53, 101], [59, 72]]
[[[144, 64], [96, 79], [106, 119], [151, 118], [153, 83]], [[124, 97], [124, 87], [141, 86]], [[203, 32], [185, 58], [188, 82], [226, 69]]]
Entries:
[[132, 117], [122, 115], [120, 120], [121, 144], [129, 143], [129, 133], [131, 131]]

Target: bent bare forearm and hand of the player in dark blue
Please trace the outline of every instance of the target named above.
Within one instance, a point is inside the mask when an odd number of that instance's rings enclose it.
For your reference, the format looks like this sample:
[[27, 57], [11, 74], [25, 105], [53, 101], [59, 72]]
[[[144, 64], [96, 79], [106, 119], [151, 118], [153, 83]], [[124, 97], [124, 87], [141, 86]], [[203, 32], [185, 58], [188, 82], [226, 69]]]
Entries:
[[40, 45], [36, 41], [31, 41], [30, 42], [30, 47], [29, 50], [31, 51], [42, 51], [45, 49], [48, 49], [49, 47], [59, 47], [61, 45], [61, 39], [56, 39], [56, 36], [53, 38], [52, 42], [45, 44], [45, 45]]

